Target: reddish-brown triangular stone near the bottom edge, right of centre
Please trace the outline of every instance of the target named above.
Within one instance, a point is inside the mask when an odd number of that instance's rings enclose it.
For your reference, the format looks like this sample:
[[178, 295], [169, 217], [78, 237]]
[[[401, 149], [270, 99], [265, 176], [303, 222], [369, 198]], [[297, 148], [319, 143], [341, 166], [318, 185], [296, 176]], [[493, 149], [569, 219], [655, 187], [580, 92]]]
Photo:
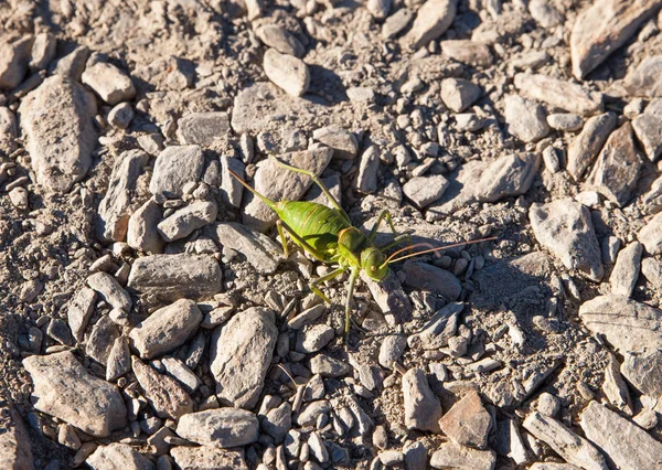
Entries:
[[487, 449], [492, 418], [476, 391], [470, 391], [439, 420], [441, 431], [456, 444]]

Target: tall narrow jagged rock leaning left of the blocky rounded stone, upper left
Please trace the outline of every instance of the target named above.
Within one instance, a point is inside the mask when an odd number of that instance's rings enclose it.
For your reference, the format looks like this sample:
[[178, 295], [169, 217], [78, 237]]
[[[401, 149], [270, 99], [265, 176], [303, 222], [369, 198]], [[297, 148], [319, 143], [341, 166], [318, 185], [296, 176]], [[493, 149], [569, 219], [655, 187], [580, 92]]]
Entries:
[[104, 239], [126, 239], [129, 217], [141, 203], [138, 181], [148, 161], [149, 156], [143, 151], [127, 150], [113, 165], [108, 191], [98, 209], [98, 232]]

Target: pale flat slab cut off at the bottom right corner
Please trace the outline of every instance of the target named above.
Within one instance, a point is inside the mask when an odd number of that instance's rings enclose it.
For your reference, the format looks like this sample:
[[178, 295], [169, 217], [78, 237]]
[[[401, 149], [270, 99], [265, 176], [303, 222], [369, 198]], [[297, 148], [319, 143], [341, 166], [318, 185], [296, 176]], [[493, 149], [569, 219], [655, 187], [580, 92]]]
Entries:
[[622, 470], [654, 469], [662, 461], [662, 444], [596, 402], [588, 404], [579, 424], [586, 437]]

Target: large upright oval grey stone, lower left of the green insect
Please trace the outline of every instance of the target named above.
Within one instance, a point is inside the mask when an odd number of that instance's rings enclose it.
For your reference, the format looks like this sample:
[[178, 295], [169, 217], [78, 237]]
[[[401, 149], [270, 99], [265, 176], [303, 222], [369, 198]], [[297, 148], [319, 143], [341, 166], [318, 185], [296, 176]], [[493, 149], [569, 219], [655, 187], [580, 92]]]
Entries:
[[257, 404], [278, 339], [274, 321], [271, 310], [250, 308], [214, 330], [210, 368], [222, 402], [241, 408]]

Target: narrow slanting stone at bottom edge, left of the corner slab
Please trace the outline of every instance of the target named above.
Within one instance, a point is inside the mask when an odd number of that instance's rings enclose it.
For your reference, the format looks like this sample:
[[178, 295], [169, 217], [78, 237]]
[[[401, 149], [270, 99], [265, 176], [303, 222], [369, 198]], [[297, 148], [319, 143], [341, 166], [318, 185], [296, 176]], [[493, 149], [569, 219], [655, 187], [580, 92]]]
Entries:
[[523, 426], [528, 432], [554, 449], [566, 462], [586, 470], [609, 469], [598, 449], [556, 419], [533, 413], [524, 420]]

